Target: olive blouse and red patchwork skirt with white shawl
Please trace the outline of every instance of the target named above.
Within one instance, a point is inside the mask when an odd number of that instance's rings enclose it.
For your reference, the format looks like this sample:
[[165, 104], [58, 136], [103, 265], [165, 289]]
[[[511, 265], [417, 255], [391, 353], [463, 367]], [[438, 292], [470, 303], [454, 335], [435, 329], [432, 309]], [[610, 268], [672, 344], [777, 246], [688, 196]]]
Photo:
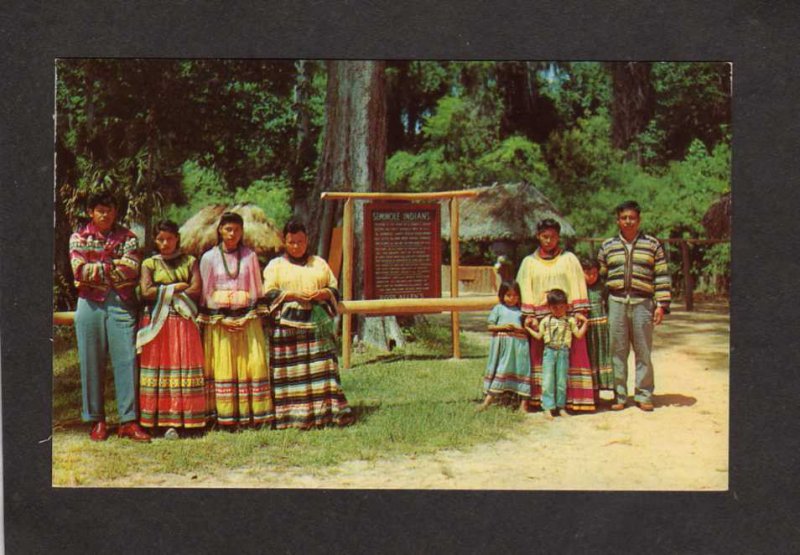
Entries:
[[[188, 283], [175, 293], [176, 283]], [[139, 422], [154, 428], [202, 428], [206, 424], [203, 345], [195, 323], [200, 294], [195, 257], [161, 255], [142, 263], [142, 291], [156, 288], [145, 306], [137, 335], [139, 354]]]

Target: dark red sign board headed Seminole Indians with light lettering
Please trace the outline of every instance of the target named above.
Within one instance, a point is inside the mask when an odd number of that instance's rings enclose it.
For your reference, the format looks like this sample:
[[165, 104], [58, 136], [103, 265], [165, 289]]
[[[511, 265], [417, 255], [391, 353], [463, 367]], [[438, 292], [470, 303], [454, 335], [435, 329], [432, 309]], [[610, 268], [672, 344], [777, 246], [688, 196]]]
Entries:
[[440, 205], [371, 202], [364, 206], [364, 297], [440, 297]]

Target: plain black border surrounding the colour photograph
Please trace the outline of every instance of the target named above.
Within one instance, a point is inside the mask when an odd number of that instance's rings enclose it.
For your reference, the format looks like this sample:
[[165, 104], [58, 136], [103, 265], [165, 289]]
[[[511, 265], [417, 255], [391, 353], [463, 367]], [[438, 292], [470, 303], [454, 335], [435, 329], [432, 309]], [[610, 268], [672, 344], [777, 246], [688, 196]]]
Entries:
[[[10, 553], [798, 547], [792, 3], [15, 0], [5, 8], [0, 346]], [[90, 56], [732, 61], [730, 490], [51, 488], [53, 62]]]

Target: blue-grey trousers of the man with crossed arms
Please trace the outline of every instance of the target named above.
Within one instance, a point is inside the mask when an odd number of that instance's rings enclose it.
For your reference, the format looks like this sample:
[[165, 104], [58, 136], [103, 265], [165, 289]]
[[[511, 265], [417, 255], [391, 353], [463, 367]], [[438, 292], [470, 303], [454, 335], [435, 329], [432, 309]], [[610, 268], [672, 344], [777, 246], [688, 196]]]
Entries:
[[120, 423], [136, 420], [138, 369], [134, 343], [136, 317], [111, 291], [104, 303], [78, 299], [75, 335], [81, 363], [81, 392], [86, 422], [105, 420], [106, 351], [114, 368], [117, 413]]

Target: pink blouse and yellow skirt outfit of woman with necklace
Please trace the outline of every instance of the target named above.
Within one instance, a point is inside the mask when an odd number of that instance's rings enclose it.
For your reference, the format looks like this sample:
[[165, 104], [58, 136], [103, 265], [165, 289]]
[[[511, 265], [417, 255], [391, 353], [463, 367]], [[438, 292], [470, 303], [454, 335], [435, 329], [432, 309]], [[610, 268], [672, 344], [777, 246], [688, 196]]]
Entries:
[[[200, 316], [205, 351], [206, 402], [220, 426], [256, 426], [272, 419], [269, 366], [261, 312], [256, 253], [221, 245], [200, 259]], [[237, 325], [229, 329], [226, 325]]]

